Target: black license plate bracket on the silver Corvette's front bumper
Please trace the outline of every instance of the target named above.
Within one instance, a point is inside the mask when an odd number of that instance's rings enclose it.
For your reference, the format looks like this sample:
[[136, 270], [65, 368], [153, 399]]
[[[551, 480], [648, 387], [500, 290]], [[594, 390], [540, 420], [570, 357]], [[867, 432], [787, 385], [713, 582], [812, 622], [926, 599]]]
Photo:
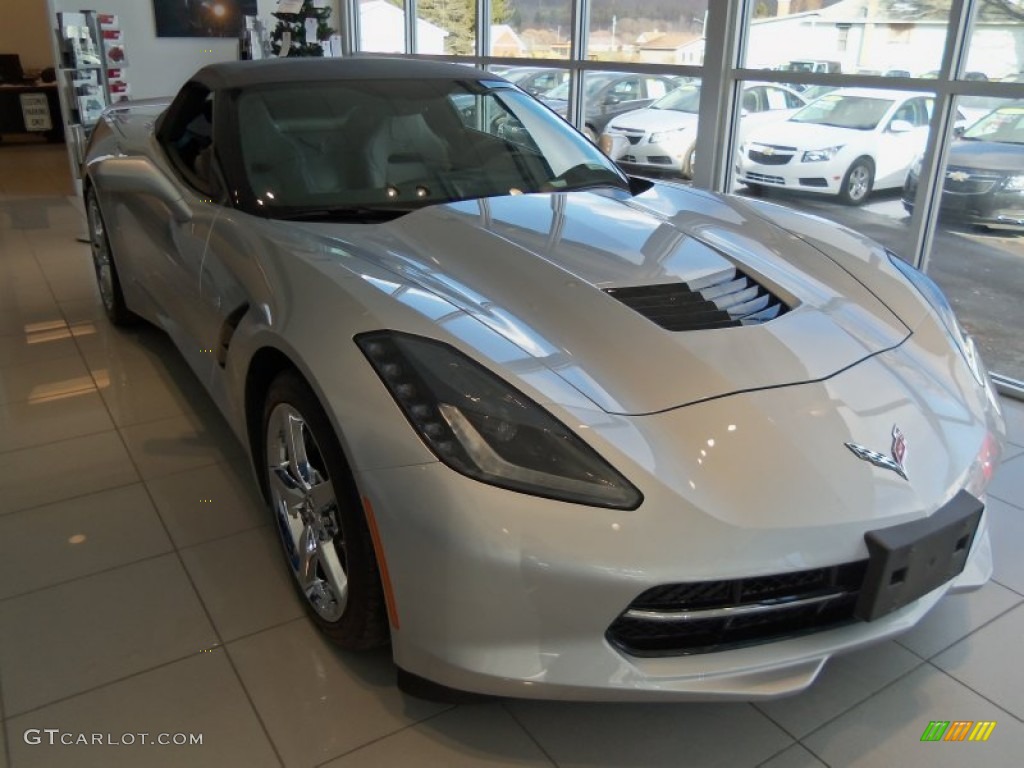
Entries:
[[961, 573], [983, 510], [961, 490], [930, 517], [864, 534], [869, 559], [854, 615], [874, 621]]

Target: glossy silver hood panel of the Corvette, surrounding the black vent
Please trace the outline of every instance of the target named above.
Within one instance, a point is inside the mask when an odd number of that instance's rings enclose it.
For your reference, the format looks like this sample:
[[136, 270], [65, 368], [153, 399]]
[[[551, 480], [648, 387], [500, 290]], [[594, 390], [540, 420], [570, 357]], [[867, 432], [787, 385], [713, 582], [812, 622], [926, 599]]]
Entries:
[[[470, 313], [609, 413], [824, 379], [909, 333], [835, 261], [739, 199], [671, 184], [636, 197], [509, 196], [386, 224], [305, 226]], [[674, 332], [607, 293], [697, 282], [730, 266], [790, 310], [763, 325]], [[443, 338], [441, 321], [431, 322]]]

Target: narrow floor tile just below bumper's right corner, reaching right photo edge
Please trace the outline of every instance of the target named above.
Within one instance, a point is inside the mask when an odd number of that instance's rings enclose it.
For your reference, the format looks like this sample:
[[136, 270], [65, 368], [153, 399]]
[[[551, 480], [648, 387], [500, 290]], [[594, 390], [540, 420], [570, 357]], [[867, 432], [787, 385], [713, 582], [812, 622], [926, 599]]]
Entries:
[[1021, 601], [1024, 598], [995, 582], [989, 582], [976, 592], [946, 595], [916, 627], [896, 641], [928, 658]]

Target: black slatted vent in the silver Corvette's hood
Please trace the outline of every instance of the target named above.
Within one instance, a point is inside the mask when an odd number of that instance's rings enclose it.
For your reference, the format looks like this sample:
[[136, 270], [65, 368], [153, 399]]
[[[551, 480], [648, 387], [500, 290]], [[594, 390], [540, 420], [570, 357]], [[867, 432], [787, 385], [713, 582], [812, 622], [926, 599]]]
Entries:
[[605, 293], [668, 331], [755, 326], [788, 308], [734, 267], [687, 283], [608, 288]]

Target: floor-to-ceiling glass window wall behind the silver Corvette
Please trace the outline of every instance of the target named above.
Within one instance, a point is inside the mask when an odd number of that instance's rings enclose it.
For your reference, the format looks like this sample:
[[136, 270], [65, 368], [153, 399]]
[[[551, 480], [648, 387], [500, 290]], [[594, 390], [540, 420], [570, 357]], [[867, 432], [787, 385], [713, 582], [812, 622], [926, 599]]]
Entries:
[[[1024, 112], [1018, 0], [966, 0], [963, 18], [950, 0], [358, 5], [362, 50], [486, 67], [627, 171], [765, 196], [874, 238], [946, 289], [991, 369], [1024, 380], [1024, 165], [1007, 127]], [[964, 213], [998, 190], [984, 203], [1001, 206], [995, 219]]]

